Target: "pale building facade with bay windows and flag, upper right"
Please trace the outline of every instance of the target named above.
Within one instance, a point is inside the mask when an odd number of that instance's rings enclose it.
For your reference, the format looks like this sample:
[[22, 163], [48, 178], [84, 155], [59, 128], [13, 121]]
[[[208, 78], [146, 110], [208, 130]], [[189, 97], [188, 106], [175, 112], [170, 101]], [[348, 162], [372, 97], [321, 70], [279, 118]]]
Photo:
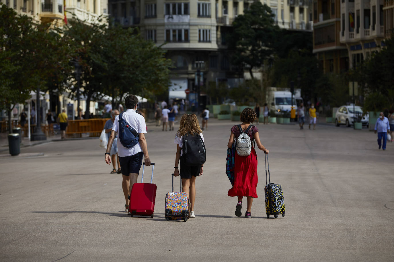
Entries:
[[384, 46], [384, 1], [341, 0], [340, 42], [348, 49], [350, 68]]

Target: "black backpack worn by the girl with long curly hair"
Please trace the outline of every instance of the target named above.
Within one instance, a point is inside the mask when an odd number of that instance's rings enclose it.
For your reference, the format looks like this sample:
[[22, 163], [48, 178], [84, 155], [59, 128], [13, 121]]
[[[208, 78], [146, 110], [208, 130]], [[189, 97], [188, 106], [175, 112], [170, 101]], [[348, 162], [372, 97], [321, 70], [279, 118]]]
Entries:
[[182, 138], [182, 157], [185, 165], [196, 167], [205, 163], [205, 145], [199, 134], [191, 135], [190, 132]]

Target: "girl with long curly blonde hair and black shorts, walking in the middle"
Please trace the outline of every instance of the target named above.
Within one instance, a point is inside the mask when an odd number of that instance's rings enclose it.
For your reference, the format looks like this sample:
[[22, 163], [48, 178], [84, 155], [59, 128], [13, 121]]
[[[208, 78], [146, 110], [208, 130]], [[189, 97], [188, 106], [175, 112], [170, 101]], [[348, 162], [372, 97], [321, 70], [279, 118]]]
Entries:
[[[195, 114], [184, 114], [180, 119], [179, 130], [175, 135], [175, 144], [177, 144], [177, 154], [175, 155], [175, 170], [174, 176], [181, 176], [182, 178], [182, 192], [186, 192], [190, 200], [190, 218], [195, 218], [194, 201], [196, 196], [195, 180], [197, 176], [203, 174], [203, 165], [188, 166], [182, 157], [183, 137], [200, 136], [204, 142], [203, 131], [200, 129], [200, 124]], [[179, 165], [180, 162], [180, 173]]]

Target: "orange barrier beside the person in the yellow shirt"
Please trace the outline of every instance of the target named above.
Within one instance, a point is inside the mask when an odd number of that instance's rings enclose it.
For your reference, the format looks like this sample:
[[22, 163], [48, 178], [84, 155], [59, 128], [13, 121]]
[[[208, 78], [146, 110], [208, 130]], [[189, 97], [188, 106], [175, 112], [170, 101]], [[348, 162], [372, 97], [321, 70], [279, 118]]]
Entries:
[[104, 129], [105, 122], [110, 118], [93, 118], [82, 120], [69, 120], [66, 128], [67, 137], [82, 137], [83, 133], [89, 136], [100, 136]]

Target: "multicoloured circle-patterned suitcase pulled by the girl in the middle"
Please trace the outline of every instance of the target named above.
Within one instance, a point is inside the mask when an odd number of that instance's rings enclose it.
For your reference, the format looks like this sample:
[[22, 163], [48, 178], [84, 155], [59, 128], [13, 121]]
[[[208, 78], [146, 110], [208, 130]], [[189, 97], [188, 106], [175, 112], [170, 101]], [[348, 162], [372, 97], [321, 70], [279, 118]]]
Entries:
[[164, 214], [165, 220], [184, 220], [189, 218], [189, 196], [182, 192], [182, 179], [180, 180], [180, 191], [174, 192], [174, 174], [172, 174], [172, 191], [165, 195]]

